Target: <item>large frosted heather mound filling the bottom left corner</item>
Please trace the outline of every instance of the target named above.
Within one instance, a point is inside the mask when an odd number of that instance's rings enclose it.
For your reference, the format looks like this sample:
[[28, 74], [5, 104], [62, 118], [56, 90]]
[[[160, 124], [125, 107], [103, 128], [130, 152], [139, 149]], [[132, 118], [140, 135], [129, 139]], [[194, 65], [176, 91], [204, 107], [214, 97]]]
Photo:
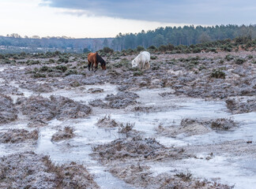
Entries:
[[99, 188], [83, 165], [54, 165], [33, 152], [0, 158], [0, 188]]

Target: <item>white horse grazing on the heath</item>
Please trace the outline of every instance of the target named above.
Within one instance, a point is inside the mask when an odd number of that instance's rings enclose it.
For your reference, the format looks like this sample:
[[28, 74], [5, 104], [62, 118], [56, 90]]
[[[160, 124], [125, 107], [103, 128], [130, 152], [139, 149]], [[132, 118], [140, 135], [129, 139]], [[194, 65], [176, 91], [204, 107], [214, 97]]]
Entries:
[[140, 69], [150, 69], [149, 61], [149, 52], [143, 51], [140, 54], [138, 54], [137, 57], [134, 58], [134, 60], [132, 61], [132, 67], [134, 68], [139, 66]]

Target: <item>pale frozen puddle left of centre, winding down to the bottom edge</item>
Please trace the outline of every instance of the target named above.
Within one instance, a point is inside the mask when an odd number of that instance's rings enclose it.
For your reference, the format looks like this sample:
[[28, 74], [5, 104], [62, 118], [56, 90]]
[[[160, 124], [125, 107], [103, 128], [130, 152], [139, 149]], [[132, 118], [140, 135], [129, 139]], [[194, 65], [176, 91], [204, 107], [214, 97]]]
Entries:
[[[82, 120], [58, 121], [53, 120], [47, 128], [42, 128], [40, 139], [36, 147], [36, 153], [48, 154], [52, 161], [64, 163], [76, 161], [85, 165], [89, 172], [96, 176], [96, 183], [100, 188], [133, 188], [122, 180], [119, 180], [105, 171], [105, 168], [97, 161], [92, 160], [92, 147], [96, 144], [109, 143], [114, 139], [119, 139], [123, 135], [117, 133], [117, 128], [100, 129], [95, 124], [98, 117], [90, 117]], [[51, 142], [51, 135], [56, 130], [55, 127], [72, 126], [77, 135], [74, 139], [61, 142]]]

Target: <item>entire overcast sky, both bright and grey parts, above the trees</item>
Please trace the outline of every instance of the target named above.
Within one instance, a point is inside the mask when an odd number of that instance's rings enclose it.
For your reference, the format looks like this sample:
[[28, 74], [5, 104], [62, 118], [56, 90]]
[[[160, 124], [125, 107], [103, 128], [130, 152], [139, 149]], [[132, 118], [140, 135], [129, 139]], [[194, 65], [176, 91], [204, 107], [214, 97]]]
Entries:
[[115, 37], [165, 26], [256, 24], [254, 0], [1, 0], [0, 35]]

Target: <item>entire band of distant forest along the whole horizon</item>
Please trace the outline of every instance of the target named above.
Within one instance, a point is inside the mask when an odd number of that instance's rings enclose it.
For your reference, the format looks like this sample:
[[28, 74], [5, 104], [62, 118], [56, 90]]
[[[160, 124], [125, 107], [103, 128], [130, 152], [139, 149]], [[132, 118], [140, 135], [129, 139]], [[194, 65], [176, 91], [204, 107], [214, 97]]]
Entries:
[[102, 39], [71, 39], [67, 37], [21, 38], [18, 34], [0, 36], [0, 52], [18, 47], [21, 51], [53, 51], [65, 52], [96, 51], [104, 47], [113, 50], [135, 49], [137, 46], [148, 48], [159, 47], [171, 43], [174, 46], [190, 46], [198, 43], [208, 43], [216, 40], [235, 39], [235, 37], [256, 38], [256, 25], [216, 25], [213, 27], [184, 26], [165, 27], [155, 30], [141, 31], [116, 35], [115, 38]]

